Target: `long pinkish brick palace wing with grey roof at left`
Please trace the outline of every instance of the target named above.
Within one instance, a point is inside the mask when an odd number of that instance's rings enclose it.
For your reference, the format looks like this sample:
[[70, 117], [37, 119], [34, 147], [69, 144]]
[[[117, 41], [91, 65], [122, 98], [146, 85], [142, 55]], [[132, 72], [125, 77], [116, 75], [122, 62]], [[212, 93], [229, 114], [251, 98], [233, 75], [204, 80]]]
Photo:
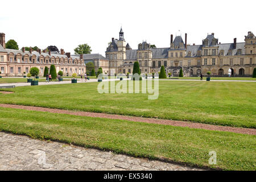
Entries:
[[63, 49], [59, 52], [44, 51], [25, 51], [16, 49], [6, 49], [5, 34], [0, 33], [0, 76], [23, 76], [30, 71], [31, 67], [39, 68], [39, 76], [43, 76], [44, 68], [51, 67], [54, 64], [56, 72], [63, 71], [64, 76], [72, 76], [86, 72], [83, 55], [71, 56], [69, 52], [65, 53]]

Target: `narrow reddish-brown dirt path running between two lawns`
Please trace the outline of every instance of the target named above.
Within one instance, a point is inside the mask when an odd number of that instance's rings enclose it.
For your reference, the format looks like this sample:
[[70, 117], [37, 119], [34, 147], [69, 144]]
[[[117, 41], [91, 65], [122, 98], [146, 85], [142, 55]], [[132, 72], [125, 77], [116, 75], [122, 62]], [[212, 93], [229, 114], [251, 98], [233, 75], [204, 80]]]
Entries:
[[35, 110], [35, 111], [46, 111], [46, 112], [49, 112], [49, 113], [71, 114], [71, 115], [80, 115], [80, 116], [87, 116], [87, 117], [123, 119], [123, 120], [128, 120], [128, 121], [135, 121], [135, 122], [146, 122], [146, 123], [155, 123], [155, 124], [161, 124], [161, 125], [190, 127], [190, 128], [193, 128], [193, 129], [205, 129], [205, 130], [214, 130], [214, 131], [229, 131], [229, 132], [233, 132], [233, 133], [256, 135], [256, 129], [248, 129], [248, 128], [241, 128], [241, 127], [230, 127], [230, 126], [217, 126], [217, 125], [209, 125], [209, 124], [204, 124], [204, 123], [194, 123], [194, 122], [187, 122], [187, 121], [174, 121], [174, 120], [168, 120], [168, 119], [142, 118], [142, 117], [133, 117], [133, 116], [127, 116], [127, 115], [118, 115], [118, 114], [90, 113], [90, 112], [85, 112], [85, 111], [50, 109], [50, 108], [46, 108], [46, 107], [10, 105], [10, 104], [0, 104], [0, 107], [8, 107], [8, 108], [14, 108], [14, 109], [25, 109], [25, 110]]

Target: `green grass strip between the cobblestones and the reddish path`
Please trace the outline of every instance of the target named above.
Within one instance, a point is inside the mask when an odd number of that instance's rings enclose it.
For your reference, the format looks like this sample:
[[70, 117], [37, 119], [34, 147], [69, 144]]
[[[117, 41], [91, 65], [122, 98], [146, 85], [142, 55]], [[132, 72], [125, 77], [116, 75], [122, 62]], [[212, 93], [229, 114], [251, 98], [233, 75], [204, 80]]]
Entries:
[[[191, 166], [255, 170], [255, 136], [0, 107], [0, 131]], [[216, 151], [217, 165], [209, 165]]]

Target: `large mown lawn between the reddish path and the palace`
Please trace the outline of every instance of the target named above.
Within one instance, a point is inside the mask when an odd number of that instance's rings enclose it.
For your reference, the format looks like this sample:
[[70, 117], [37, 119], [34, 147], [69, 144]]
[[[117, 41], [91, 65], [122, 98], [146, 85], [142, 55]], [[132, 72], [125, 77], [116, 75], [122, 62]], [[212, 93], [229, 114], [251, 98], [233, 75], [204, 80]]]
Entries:
[[97, 82], [23, 86], [0, 103], [136, 115], [256, 128], [255, 82], [159, 81], [158, 100], [147, 94], [100, 94]]

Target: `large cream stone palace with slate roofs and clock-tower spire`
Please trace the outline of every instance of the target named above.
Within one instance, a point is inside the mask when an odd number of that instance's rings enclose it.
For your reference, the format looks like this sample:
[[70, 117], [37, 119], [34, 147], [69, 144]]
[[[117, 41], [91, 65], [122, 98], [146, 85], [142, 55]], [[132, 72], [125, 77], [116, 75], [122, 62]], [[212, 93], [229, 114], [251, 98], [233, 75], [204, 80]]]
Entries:
[[[115, 73], [133, 72], [133, 64], [139, 62], [141, 73], [160, 72], [164, 65], [166, 72], [173, 76], [179, 75], [183, 68], [185, 76], [206, 75], [208, 71], [212, 76], [251, 76], [256, 67], [256, 38], [253, 32], [248, 32], [245, 42], [222, 44], [214, 37], [214, 33], [207, 35], [201, 45], [187, 44], [181, 36], [173, 39], [171, 35], [170, 47], [151, 48], [150, 43], [138, 44], [138, 49], [132, 49], [126, 43], [121, 28], [119, 39], [112, 38], [106, 49], [106, 59], [109, 60], [109, 69]], [[109, 72], [110, 73], [110, 72]]]

